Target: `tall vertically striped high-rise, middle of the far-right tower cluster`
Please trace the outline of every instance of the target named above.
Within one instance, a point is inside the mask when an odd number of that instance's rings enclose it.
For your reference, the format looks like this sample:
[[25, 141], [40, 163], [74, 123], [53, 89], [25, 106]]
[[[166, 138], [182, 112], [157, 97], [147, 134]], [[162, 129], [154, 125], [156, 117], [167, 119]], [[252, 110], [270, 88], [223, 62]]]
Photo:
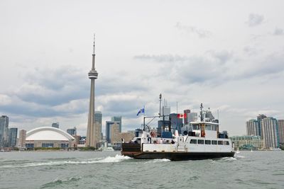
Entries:
[[274, 149], [279, 146], [278, 122], [275, 118], [263, 118], [261, 120], [261, 139], [264, 139], [266, 149]]

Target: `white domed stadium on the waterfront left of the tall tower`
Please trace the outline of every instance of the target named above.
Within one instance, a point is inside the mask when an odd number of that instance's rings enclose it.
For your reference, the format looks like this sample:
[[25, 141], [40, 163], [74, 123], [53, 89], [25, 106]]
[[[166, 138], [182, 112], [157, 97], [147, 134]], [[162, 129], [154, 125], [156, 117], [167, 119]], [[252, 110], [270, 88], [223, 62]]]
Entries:
[[55, 127], [38, 127], [26, 133], [26, 147], [73, 147], [75, 138]]

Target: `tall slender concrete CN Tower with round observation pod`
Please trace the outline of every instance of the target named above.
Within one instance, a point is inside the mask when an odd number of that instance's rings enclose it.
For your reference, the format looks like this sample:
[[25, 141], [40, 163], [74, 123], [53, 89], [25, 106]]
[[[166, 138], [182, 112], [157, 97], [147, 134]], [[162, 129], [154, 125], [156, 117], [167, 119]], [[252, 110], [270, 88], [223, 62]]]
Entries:
[[[95, 40], [95, 39], [94, 39]], [[86, 147], [96, 147], [95, 133], [94, 133], [94, 80], [97, 79], [98, 73], [94, 67], [94, 45], [92, 55], [92, 69], [89, 71], [89, 79], [91, 79], [91, 93], [89, 95], [89, 117], [87, 127]]]

